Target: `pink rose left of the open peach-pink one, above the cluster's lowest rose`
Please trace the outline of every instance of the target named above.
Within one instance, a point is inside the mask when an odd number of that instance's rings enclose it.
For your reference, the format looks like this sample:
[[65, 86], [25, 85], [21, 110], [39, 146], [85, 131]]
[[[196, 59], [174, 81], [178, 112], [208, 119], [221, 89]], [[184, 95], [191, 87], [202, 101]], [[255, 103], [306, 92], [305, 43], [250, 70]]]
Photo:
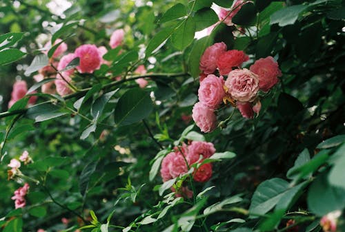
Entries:
[[200, 83], [198, 90], [199, 101], [210, 109], [217, 109], [225, 96], [223, 76], [219, 78], [213, 74], [208, 75]]

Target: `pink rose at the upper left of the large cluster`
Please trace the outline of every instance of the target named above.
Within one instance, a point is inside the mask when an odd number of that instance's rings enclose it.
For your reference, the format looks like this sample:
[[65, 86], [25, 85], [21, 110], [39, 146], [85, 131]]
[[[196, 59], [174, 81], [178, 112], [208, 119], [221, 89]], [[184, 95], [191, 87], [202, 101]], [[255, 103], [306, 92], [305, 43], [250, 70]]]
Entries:
[[226, 51], [226, 44], [215, 43], [214, 45], [206, 48], [204, 54], [200, 59], [200, 70], [205, 74], [212, 74], [217, 69], [218, 57]]

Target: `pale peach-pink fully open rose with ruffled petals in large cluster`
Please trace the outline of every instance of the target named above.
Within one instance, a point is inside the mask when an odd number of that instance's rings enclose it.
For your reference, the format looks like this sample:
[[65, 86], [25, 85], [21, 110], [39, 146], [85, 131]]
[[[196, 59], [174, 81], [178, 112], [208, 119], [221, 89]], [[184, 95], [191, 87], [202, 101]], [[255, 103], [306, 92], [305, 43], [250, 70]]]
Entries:
[[246, 68], [233, 70], [228, 74], [225, 86], [236, 101], [252, 102], [259, 91], [259, 77]]

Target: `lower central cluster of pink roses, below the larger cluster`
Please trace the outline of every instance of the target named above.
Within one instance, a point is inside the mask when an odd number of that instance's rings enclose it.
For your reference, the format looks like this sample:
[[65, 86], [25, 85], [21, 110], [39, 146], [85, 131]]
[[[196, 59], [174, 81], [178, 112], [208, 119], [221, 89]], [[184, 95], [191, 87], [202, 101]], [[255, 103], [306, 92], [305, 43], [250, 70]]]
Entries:
[[[213, 143], [193, 141], [189, 145], [184, 144], [181, 147], [175, 147], [174, 151], [164, 157], [161, 162], [161, 178], [164, 182], [177, 178], [187, 173], [191, 165], [201, 163], [213, 154], [215, 154]], [[193, 179], [197, 182], [206, 182], [211, 176], [212, 165], [210, 163], [201, 165], [193, 173]], [[177, 196], [186, 196], [187, 198], [193, 196], [193, 192], [188, 187], [173, 189], [173, 191], [177, 193]]]

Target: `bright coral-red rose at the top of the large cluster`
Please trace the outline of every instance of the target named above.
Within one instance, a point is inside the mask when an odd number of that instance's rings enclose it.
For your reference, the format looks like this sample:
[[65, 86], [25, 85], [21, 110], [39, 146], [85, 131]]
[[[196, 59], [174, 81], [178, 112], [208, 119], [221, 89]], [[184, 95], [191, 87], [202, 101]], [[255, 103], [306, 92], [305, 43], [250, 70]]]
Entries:
[[233, 67], [241, 67], [242, 63], [248, 61], [248, 59], [249, 56], [239, 50], [229, 50], [222, 53], [217, 59], [219, 74], [228, 75], [233, 70]]

